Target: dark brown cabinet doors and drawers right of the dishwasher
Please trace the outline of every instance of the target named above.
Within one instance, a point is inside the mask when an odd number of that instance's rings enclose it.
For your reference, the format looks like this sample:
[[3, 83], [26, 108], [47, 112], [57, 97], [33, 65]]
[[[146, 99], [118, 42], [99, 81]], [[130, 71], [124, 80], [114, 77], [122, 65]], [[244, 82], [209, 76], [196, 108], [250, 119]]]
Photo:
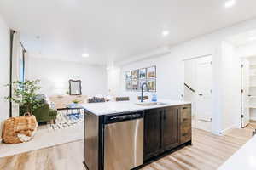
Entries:
[[191, 105], [145, 111], [144, 161], [191, 141]]

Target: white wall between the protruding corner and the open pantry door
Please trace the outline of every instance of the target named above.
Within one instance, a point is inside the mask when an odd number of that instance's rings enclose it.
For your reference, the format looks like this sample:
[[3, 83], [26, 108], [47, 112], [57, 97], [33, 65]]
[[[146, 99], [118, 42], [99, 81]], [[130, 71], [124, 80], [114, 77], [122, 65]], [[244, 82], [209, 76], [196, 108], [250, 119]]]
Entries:
[[236, 48], [222, 42], [222, 128], [241, 127], [241, 60]]

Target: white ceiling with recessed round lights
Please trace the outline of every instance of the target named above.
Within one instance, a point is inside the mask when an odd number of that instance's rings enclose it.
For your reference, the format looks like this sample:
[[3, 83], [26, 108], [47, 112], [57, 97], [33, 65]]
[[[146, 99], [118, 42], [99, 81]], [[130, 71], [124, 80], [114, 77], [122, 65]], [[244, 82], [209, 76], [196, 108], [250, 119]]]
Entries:
[[[0, 13], [32, 55], [104, 65], [256, 16], [254, 0], [236, 0], [228, 9], [224, 2], [1, 0]], [[90, 57], [82, 58], [84, 53]]]

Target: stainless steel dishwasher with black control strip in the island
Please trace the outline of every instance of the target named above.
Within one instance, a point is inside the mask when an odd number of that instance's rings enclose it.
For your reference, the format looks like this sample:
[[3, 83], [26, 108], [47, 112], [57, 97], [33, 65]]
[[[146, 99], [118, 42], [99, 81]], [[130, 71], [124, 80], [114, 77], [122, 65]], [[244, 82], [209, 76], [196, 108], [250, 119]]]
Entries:
[[143, 164], [143, 111], [105, 117], [104, 170], [130, 170]]

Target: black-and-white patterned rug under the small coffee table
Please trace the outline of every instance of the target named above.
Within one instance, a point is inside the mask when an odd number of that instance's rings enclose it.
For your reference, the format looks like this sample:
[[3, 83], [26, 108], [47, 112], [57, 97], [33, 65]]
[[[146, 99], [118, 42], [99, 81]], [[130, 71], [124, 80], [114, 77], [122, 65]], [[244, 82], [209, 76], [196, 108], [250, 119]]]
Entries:
[[69, 127], [78, 126], [84, 123], [84, 114], [66, 114], [59, 113], [55, 120], [55, 124], [48, 124], [49, 131], [61, 130]]

